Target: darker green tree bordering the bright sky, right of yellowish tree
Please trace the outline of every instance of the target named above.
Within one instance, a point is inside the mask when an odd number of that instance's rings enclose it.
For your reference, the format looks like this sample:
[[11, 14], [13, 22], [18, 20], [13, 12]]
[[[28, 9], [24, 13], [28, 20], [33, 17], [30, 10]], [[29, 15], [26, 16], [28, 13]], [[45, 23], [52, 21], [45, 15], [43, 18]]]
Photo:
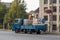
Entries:
[[19, 16], [19, 18], [24, 18], [24, 19], [28, 17], [28, 14], [26, 12], [26, 5], [24, 5], [23, 3], [18, 6], [17, 16]]

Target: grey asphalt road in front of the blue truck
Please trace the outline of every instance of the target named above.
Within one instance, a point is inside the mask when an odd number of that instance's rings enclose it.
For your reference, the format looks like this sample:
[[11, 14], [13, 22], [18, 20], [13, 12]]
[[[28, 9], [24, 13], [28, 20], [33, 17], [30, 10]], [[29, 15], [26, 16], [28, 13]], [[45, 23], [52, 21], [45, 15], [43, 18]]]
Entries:
[[60, 40], [60, 35], [17, 34], [12, 31], [0, 31], [0, 40]]

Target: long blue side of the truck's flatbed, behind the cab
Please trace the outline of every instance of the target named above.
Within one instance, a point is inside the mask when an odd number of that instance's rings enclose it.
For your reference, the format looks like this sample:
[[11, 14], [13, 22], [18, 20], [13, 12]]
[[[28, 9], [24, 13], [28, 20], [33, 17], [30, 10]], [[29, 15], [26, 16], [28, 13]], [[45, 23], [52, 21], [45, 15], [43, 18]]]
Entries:
[[47, 26], [45, 25], [24, 25], [24, 29], [35, 29], [35, 30], [42, 30], [42, 31], [46, 31], [47, 30]]

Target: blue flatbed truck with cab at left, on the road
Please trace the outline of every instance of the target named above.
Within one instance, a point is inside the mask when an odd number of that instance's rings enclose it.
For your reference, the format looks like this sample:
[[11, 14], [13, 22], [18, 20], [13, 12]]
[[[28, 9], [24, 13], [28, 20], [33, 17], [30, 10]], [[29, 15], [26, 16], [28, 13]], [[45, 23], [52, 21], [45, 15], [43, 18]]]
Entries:
[[18, 18], [16, 20], [14, 20], [14, 22], [12, 23], [12, 31], [15, 31], [16, 33], [19, 32], [24, 32], [24, 33], [30, 33], [32, 34], [33, 32], [40, 34], [41, 31], [46, 32], [47, 30], [47, 26], [45, 24], [45, 19], [43, 18], [41, 20], [42, 24], [40, 25], [23, 25], [24, 23], [24, 19], [22, 18]]

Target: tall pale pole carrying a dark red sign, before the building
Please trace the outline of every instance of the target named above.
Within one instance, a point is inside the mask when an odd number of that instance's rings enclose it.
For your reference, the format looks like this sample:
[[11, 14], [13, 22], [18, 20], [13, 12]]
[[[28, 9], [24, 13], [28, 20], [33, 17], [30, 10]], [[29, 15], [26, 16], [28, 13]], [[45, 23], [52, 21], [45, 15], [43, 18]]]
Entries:
[[51, 0], [51, 8], [45, 10], [46, 13], [49, 14], [49, 32], [52, 32], [52, 27], [53, 27], [53, 0]]

